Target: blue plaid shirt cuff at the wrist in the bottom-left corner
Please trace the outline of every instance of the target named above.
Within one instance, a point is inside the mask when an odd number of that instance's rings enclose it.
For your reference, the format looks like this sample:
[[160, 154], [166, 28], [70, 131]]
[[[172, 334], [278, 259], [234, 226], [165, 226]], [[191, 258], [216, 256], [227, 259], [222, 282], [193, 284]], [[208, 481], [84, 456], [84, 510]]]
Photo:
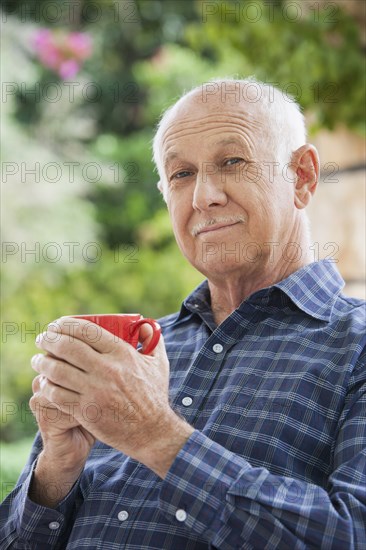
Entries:
[[65, 531], [70, 528], [68, 520], [74, 512], [79, 481], [74, 484], [57, 508], [36, 504], [28, 497], [36, 462], [13, 501], [15, 527], [18, 537], [22, 541], [29, 542], [31, 548], [50, 550], [60, 543]]

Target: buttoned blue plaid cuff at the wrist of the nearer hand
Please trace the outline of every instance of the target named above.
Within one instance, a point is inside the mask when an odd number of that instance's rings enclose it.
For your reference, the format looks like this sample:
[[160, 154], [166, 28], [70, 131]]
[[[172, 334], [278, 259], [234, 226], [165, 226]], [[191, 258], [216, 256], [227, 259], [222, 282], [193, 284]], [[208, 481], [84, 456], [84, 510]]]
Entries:
[[162, 482], [160, 509], [173, 525], [184, 523], [212, 540], [225, 523], [230, 487], [250, 468], [245, 459], [195, 430]]

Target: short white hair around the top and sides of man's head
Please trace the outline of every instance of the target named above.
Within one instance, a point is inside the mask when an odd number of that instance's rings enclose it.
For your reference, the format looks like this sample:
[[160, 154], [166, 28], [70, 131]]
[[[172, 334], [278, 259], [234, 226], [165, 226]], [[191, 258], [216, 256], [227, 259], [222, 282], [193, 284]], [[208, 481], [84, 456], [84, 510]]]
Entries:
[[255, 103], [259, 116], [267, 120], [269, 144], [273, 148], [273, 156], [281, 167], [290, 162], [292, 153], [306, 142], [306, 128], [304, 116], [300, 106], [293, 97], [282, 92], [271, 84], [265, 84], [254, 78], [215, 79], [196, 86], [184, 93], [178, 101], [169, 107], [162, 115], [153, 139], [153, 160], [156, 165], [160, 181], [159, 189], [166, 200], [167, 181], [164, 172], [161, 142], [164, 132], [176, 116], [176, 113], [187, 99], [200, 97], [203, 103], [209, 101], [210, 96], [221, 94], [223, 100], [236, 95], [238, 106], [243, 101]]

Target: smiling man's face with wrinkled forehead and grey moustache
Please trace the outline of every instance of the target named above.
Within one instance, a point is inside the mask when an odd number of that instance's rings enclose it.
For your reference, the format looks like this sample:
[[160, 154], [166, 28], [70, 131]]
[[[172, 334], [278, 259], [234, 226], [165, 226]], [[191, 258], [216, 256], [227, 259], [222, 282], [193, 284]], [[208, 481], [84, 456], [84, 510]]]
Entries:
[[255, 104], [220, 98], [188, 99], [165, 128], [175, 237], [209, 279], [271, 269], [274, 252], [295, 234], [294, 184], [274, 156], [273, 131]]

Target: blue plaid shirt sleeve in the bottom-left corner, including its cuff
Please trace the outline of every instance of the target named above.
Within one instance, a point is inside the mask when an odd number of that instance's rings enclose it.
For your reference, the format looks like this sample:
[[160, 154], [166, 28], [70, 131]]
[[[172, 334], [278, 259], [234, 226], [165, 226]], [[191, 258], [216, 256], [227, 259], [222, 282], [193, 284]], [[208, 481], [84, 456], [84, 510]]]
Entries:
[[80, 495], [78, 482], [57, 508], [46, 508], [28, 497], [41, 449], [42, 440], [38, 433], [16, 487], [0, 506], [2, 550], [52, 550], [59, 548], [69, 536]]

